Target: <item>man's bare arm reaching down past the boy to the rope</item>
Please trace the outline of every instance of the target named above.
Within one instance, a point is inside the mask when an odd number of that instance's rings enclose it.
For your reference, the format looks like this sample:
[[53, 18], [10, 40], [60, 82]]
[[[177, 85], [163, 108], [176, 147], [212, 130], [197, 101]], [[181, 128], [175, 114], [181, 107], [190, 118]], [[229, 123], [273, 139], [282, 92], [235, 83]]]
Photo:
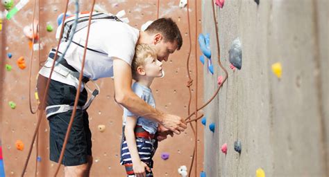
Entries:
[[144, 118], [159, 122], [167, 129], [179, 134], [187, 128], [185, 120], [177, 115], [162, 113], [144, 102], [131, 89], [133, 80], [129, 64], [113, 57], [113, 73], [115, 76], [115, 100], [130, 112]]

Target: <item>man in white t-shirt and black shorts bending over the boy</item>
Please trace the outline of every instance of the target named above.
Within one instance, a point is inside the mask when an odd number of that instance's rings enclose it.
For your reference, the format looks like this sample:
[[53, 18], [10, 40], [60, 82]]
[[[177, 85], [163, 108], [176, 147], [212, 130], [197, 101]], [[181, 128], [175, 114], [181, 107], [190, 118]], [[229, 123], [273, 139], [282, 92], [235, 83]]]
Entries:
[[[86, 36], [87, 28], [76, 32], [73, 43], [65, 54], [65, 59], [55, 66], [51, 76], [46, 112], [50, 127], [50, 160], [54, 162], [59, 160], [71, 117], [71, 107], [74, 105], [78, 88], [77, 73], [81, 72]], [[67, 44], [67, 40], [62, 40], [58, 55], [62, 55]], [[158, 60], [167, 62], [169, 55], [180, 49], [183, 39], [178, 26], [170, 18], [154, 21], [144, 32], [118, 19], [93, 21], [90, 26], [83, 80], [97, 80], [101, 77], [114, 76], [115, 100], [119, 104], [136, 115], [155, 120], [170, 131], [179, 134], [180, 131], [187, 128], [183, 118], [154, 109], [135, 95], [131, 89], [130, 64], [136, 44], [153, 44]], [[47, 62], [40, 69], [37, 81], [39, 95], [44, 93], [44, 86], [49, 77], [55, 53], [56, 50], [51, 49]], [[89, 176], [92, 165], [91, 132], [85, 109], [87, 91], [83, 86], [80, 91], [78, 109], [62, 160], [62, 164], [65, 165], [65, 176]]]

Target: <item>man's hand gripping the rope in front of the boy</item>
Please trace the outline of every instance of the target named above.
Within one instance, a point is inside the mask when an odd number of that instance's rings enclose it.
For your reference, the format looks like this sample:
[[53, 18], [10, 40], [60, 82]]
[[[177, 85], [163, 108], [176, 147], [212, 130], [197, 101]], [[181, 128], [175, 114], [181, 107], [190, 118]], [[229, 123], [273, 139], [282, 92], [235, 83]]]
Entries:
[[187, 128], [186, 122], [183, 118], [180, 118], [177, 115], [164, 114], [161, 124], [176, 134], [180, 134], [181, 131], [184, 131]]

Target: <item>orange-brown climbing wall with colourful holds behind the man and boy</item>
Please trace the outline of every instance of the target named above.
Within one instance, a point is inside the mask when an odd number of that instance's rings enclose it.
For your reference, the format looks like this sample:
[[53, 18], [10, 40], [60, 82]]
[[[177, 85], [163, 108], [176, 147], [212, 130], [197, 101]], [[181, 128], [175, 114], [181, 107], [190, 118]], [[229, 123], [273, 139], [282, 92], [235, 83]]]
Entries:
[[[14, 1], [14, 6], [22, 1]], [[38, 1], [36, 1], [38, 3]], [[189, 30], [187, 26], [187, 10], [178, 7], [179, 1], [160, 0], [160, 17], [172, 17], [178, 24], [183, 35], [183, 47], [180, 51], [169, 57], [169, 61], [164, 64], [166, 76], [155, 80], [153, 94], [158, 109], [167, 113], [187, 116], [187, 106], [189, 101], [189, 92], [186, 87], [187, 78], [187, 56], [189, 53]], [[1, 59], [0, 59], [0, 130], [3, 151], [3, 164], [6, 176], [21, 176], [24, 162], [28, 154], [28, 148], [31, 145], [33, 131], [37, 123], [37, 115], [32, 114], [29, 108], [29, 97], [31, 95], [31, 108], [36, 109], [36, 100], [34, 97], [36, 75], [42, 64], [47, 58], [50, 48], [55, 47], [55, 31], [57, 28], [57, 17], [65, 10], [65, 1], [41, 1], [40, 3], [40, 43], [34, 48], [33, 65], [30, 66], [31, 40], [28, 39], [23, 29], [30, 26], [33, 19], [34, 1], [26, 1], [26, 5], [21, 6], [19, 11], [6, 19], [5, 10], [1, 7], [2, 30], [1, 35]], [[112, 14], [117, 14], [120, 10], [125, 10], [129, 24], [140, 28], [148, 20], [156, 19], [158, 1], [132, 1], [132, 0], [99, 0], [96, 1], [98, 9], [106, 10]], [[90, 10], [90, 1], [81, 1], [80, 10]], [[35, 11], [35, 19], [39, 19], [38, 7]], [[197, 18], [195, 18], [195, 10]], [[69, 13], [74, 13], [74, 1], [69, 1]], [[198, 32], [201, 31], [201, 1], [197, 1], [197, 8], [194, 1], [189, 5], [190, 23], [192, 35], [192, 51], [190, 55], [189, 73], [195, 80], [196, 56], [199, 56], [199, 47], [194, 48], [196, 39], [195, 23], [198, 25]], [[47, 28], [48, 26], [48, 28]], [[53, 30], [51, 31], [51, 26]], [[49, 31], [47, 31], [47, 29]], [[37, 42], [37, 41], [36, 41]], [[198, 54], [195, 54], [195, 51]], [[40, 52], [40, 55], [39, 55]], [[11, 57], [10, 54], [12, 55]], [[40, 56], [40, 57], [39, 57]], [[17, 59], [24, 57], [26, 68], [21, 69], [17, 65]], [[10, 70], [10, 66], [11, 70]], [[21, 64], [22, 65], [22, 64]], [[32, 75], [29, 77], [29, 69]], [[203, 97], [203, 66], [199, 64], [199, 90], [198, 104], [202, 104]], [[31, 91], [28, 92], [28, 84], [31, 79]], [[124, 168], [119, 165], [119, 146], [121, 140], [121, 114], [120, 107], [115, 104], [113, 95], [113, 82], [110, 78], [97, 81], [101, 86], [101, 93], [89, 108], [90, 129], [92, 131], [92, 151], [94, 162], [91, 170], [91, 176], [124, 176]], [[92, 86], [92, 85], [91, 85]], [[196, 85], [192, 85], [192, 95], [195, 93]], [[195, 106], [195, 99], [192, 97], [191, 108]], [[191, 109], [194, 111], [194, 109]], [[99, 131], [99, 125], [105, 126], [103, 131]], [[199, 136], [197, 137], [197, 171], [203, 169], [203, 127], [199, 122]], [[33, 145], [33, 152], [28, 163], [25, 176], [53, 176], [57, 164], [49, 161], [49, 126], [44, 118], [41, 122], [38, 143]], [[194, 149], [194, 136], [192, 130], [188, 128], [180, 136], [168, 138], [160, 142], [160, 147], [155, 153], [155, 176], [180, 176], [178, 167], [189, 165], [192, 160]], [[38, 149], [38, 150], [36, 150]], [[169, 153], [168, 160], [162, 160], [161, 154]], [[37, 165], [37, 171], [35, 167]], [[62, 176], [62, 169], [58, 176]], [[194, 175], [192, 175], [194, 176]]]

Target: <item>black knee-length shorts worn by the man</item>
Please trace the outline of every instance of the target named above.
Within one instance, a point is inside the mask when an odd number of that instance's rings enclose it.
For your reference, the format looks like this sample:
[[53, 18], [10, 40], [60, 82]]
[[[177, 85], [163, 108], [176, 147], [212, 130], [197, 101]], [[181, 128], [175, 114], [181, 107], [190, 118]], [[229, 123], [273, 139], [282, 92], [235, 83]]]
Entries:
[[[47, 97], [47, 106], [57, 104], [69, 104], [73, 106], [75, 97], [76, 88], [74, 86], [51, 80]], [[80, 93], [78, 106], [83, 106], [85, 102], [87, 102], [87, 91], [83, 89]], [[58, 162], [60, 158], [60, 151], [62, 150], [72, 111], [73, 110], [51, 115], [48, 118], [50, 127], [49, 157], [53, 162]], [[76, 166], [87, 163], [87, 156], [92, 156], [91, 139], [92, 133], [89, 128], [87, 111], [77, 109], [62, 164], [65, 166]]]

